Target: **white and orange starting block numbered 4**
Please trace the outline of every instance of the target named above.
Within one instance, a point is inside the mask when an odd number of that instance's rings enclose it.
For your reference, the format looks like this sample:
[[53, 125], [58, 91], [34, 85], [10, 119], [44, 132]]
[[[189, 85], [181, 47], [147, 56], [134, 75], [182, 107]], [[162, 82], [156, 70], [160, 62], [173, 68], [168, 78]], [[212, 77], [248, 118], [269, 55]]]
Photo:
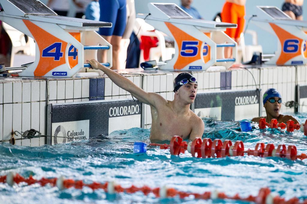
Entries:
[[111, 23], [58, 16], [39, 0], [0, 3], [4, 9], [0, 20], [36, 42], [35, 61], [19, 76], [72, 77], [90, 67], [86, 60], [97, 60], [97, 50], [107, 50], [108, 63], [102, 64], [112, 67], [112, 46], [95, 32]]

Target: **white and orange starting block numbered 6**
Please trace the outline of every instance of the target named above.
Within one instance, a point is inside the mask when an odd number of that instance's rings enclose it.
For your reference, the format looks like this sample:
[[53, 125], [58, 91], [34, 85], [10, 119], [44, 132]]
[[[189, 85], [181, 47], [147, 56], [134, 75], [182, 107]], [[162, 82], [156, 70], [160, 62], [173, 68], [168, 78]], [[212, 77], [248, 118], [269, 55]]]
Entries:
[[257, 6], [254, 24], [278, 38], [275, 56], [267, 61], [271, 65], [305, 65], [307, 63], [307, 21], [292, 20], [276, 6]]

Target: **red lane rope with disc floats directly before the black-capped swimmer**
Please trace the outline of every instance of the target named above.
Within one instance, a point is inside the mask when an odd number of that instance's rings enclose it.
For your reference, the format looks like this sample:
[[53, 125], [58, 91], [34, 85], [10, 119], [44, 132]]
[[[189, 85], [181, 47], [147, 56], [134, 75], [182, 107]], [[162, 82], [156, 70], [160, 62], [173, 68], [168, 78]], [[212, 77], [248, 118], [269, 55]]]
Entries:
[[192, 154], [192, 157], [197, 158], [221, 158], [227, 156], [244, 156], [244, 153], [247, 155], [252, 155], [255, 157], [281, 157], [288, 158], [291, 160], [296, 159], [305, 159], [307, 155], [302, 153], [297, 155], [297, 149], [294, 145], [289, 145], [288, 148], [286, 145], [278, 145], [275, 149], [274, 144], [257, 143], [255, 149], [248, 149], [244, 151], [244, 144], [242, 141], [238, 140], [232, 145], [230, 140], [225, 140], [222, 142], [220, 139], [215, 139], [213, 142], [209, 138], [200, 138], [194, 139], [190, 143], [182, 142], [182, 138], [179, 136], [174, 136], [171, 139], [170, 145], [167, 144], [156, 144], [150, 143], [151, 146], [159, 146], [160, 149], [168, 149], [172, 155], [179, 155], [180, 153], [185, 153], [185, 150], [188, 150]]

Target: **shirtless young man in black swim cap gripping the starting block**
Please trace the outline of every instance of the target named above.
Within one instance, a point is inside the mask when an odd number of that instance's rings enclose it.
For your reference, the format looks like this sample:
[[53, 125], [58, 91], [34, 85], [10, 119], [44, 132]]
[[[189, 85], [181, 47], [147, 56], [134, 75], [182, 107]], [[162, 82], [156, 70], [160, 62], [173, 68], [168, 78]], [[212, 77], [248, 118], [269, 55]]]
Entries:
[[139, 102], [150, 105], [151, 130], [150, 140], [170, 140], [174, 135], [190, 140], [201, 138], [204, 122], [190, 109], [197, 93], [197, 81], [188, 73], [179, 74], [174, 80], [174, 100], [165, 100], [157, 93], [148, 93], [137, 87], [126, 77], [114, 72], [92, 59], [93, 69], [103, 71], [117, 86], [130, 92]]

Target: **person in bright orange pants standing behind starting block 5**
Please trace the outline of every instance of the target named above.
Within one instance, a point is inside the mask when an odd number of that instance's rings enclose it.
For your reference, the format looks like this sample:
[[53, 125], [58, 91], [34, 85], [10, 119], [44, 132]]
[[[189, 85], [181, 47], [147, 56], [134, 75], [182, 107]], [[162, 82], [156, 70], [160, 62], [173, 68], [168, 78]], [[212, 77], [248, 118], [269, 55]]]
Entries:
[[[244, 28], [246, 0], [226, 0], [222, 9], [222, 22], [238, 24], [237, 28], [227, 28], [226, 34], [239, 44], [240, 35]], [[231, 57], [231, 48], [225, 48], [225, 58]]]

